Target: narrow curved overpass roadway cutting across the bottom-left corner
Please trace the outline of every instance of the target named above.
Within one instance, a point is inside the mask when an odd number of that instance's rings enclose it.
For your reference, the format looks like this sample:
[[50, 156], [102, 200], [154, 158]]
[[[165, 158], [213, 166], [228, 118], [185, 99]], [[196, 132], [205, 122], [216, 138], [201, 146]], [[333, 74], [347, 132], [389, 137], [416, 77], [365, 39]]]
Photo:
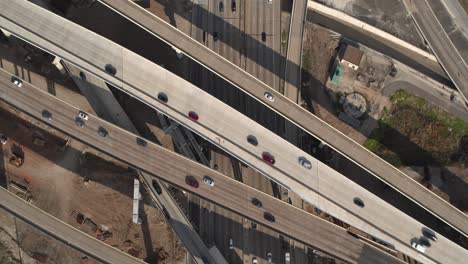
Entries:
[[[2, 84], [3, 86], [3, 84]], [[45, 234], [103, 263], [144, 263], [68, 225], [0, 187], [0, 207]]]

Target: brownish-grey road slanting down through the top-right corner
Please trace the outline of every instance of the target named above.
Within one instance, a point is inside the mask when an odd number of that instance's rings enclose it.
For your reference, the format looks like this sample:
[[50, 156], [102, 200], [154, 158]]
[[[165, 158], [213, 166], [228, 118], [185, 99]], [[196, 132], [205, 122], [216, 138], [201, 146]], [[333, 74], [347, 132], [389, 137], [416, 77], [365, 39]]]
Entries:
[[[416, 4], [417, 2], [417, 4]], [[447, 74], [458, 88], [465, 101], [468, 101], [468, 67], [463, 58], [457, 52], [444, 28], [437, 20], [425, 0], [410, 3], [414, 12], [413, 16], [419, 21], [424, 37], [434, 50], [434, 55], [441, 62]]]

